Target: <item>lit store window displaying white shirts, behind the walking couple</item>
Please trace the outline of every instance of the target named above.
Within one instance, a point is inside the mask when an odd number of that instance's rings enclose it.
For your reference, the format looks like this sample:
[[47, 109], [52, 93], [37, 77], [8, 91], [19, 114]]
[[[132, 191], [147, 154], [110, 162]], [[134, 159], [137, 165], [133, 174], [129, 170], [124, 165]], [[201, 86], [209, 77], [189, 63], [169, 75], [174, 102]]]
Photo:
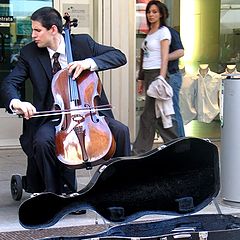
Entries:
[[[140, 46], [146, 36], [148, 0], [136, 0], [136, 70]], [[165, 0], [168, 25], [180, 32], [185, 55], [180, 59], [183, 85], [180, 107], [187, 136], [220, 139], [223, 73], [240, 72], [240, 3], [238, 0]], [[207, 77], [199, 72], [207, 73]], [[137, 73], [136, 73], [137, 76]], [[189, 80], [190, 79], [190, 80]], [[189, 105], [190, 104], [190, 105]], [[136, 126], [144, 95], [136, 99]]]

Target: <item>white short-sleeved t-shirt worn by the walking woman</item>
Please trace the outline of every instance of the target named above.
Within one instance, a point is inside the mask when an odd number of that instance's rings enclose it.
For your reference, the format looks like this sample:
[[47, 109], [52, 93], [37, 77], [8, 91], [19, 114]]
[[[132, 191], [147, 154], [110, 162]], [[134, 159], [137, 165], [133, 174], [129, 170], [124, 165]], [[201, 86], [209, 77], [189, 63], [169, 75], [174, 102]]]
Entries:
[[165, 26], [158, 31], [148, 34], [142, 43], [143, 49], [143, 69], [161, 68], [161, 44], [162, 40], [168, 39], [171, 43], [171, 33]]

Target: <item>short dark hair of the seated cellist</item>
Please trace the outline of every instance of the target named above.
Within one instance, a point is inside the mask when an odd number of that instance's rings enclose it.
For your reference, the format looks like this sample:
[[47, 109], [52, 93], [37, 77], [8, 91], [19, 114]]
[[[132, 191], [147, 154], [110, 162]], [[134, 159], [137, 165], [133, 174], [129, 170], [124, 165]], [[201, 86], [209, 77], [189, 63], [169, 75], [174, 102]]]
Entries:
[[52, 27], [52, 25], [56, 25], [58, 32], [62, 33], [62, 16], [52, 7], [39, 8], [32, 14], [31, 20], [40, 22], [42, 26], [48, 30]]

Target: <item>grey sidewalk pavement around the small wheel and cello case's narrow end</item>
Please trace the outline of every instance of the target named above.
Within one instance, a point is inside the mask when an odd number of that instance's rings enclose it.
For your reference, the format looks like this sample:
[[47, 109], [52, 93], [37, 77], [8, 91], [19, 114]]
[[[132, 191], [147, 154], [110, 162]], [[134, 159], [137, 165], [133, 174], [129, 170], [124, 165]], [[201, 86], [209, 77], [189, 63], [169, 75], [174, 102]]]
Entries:
[[[30, 197], [23, 191], [20, 201], [15, 201], [11, 196], [11, 176], [13, 174], [25, 175], [26, 157], [23, 151], [18, 149], [0, 149], [0, 232], [19, 231], [24, 228], [18, 221], [18, 208], [20, 204]], [[78, 170], [77, 178], [79, 188], [84, 187], [90, 180], [94, 170]], [[92, 225], [102, 219], [93, 212], [88, 211], [85, 215], [68, 215], [54, 227]]]

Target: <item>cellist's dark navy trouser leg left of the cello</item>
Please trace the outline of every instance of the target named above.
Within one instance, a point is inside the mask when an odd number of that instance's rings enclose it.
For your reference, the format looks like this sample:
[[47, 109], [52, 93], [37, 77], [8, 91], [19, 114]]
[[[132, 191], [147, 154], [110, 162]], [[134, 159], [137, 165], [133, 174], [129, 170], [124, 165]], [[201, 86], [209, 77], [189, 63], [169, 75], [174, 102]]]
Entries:
[[48, 121], [41, 125], [33, 137], [32, 144], [33, 156], [28, 157], [26, 191], [56, 194], [75, 192], [75, 170], [62, 164], [55, 154], [54, 123]]

